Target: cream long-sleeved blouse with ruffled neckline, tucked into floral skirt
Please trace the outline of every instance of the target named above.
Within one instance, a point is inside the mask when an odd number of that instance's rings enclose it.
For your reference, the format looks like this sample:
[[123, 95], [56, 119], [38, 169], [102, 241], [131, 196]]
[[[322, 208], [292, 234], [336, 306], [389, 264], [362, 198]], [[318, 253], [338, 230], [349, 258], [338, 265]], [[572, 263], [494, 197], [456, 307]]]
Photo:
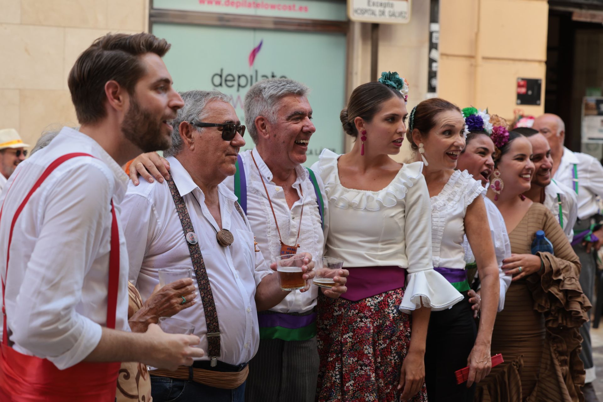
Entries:
[[[339, 181], [339, 155], [321, 152], [312, 168], [323, 178], [329, 199], [330, 227], [325, 254], [345, 266], [405, 268], [406, 287], [400, 310], [421, 305], [445, 310], [463, 299], [432, 267], [429, 192], [423, 163], [403, 165], [379, 191], [355, 190]], [[378, 269], [378, 268], [375, 268]]]

